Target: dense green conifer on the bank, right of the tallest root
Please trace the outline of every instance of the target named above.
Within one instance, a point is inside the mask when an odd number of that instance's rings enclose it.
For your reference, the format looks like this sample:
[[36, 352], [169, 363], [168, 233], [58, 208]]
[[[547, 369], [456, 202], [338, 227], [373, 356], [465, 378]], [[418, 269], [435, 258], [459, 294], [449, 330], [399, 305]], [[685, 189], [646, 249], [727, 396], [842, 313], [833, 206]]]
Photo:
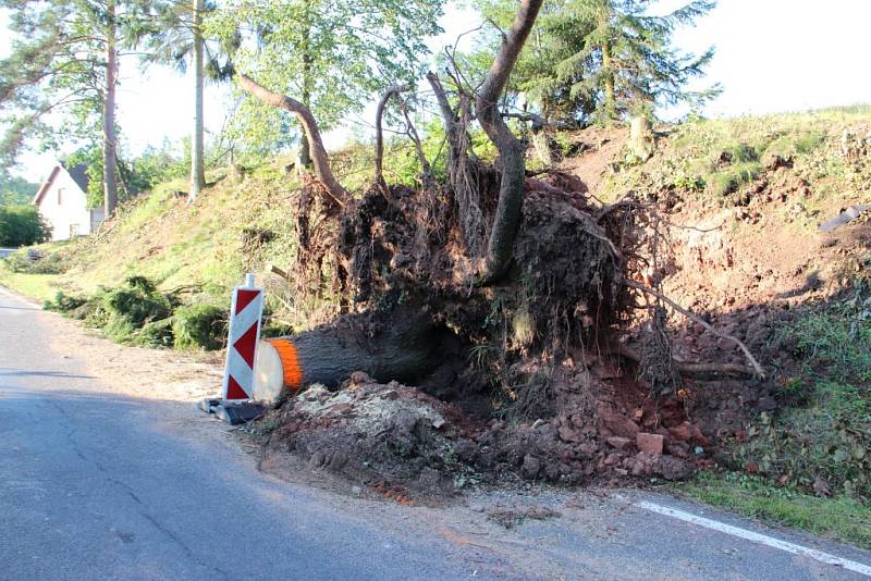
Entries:
[[[513, 16], [513, 0], [479, 0], [481, 13], [500, 26]], [[651, 15], [653, 0], [554, 0], [542, 9], [512, 88], [524, 91], [548, 119], [610, 123], [650, 113], [658, 104], [700, 102], [719, 87], [689, 91], [704, 73], [713, 48], [701, 55], [672, 45], [675, 29], [711, 11], [713, 0], [694, 0], [665, 15]], [[492, 51], [492, 48], [490, 49]]]

